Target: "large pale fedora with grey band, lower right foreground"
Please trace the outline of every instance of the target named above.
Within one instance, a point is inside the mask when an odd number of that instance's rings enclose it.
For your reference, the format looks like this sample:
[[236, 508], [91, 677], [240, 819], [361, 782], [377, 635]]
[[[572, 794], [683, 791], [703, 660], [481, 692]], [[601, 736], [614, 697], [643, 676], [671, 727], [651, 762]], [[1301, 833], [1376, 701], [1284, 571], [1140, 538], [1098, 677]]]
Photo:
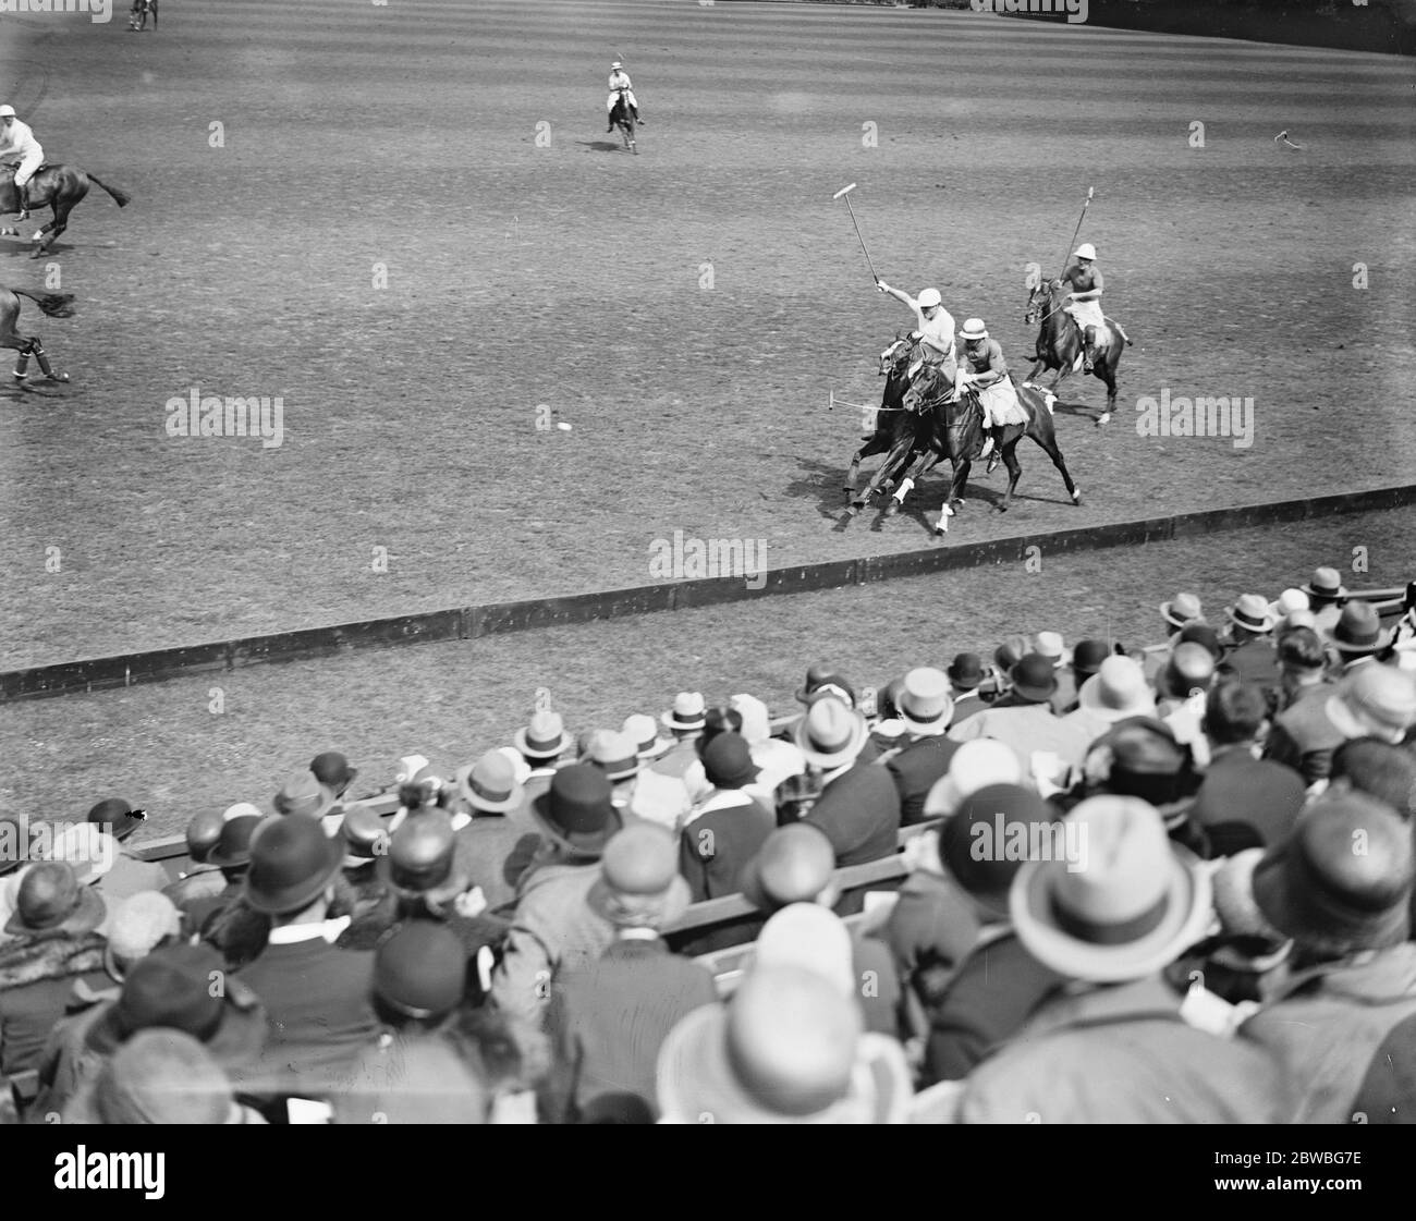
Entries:
[[1008, 907], [1044, 966], [1092, 983], [1143, 979], [1174, 962], [1209, 924], [1209, 874], [1138, 797], [1087, 797], [1065, 819], [1079, 863], [1025, 861]]

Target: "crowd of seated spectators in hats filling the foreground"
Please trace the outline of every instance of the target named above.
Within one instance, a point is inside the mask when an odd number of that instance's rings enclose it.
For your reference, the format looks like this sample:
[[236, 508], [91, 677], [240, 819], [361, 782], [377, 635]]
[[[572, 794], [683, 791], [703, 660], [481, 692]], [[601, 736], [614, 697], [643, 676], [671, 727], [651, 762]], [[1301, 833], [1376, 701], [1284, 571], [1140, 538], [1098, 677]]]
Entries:
[[1416, 599], [1155, 626], [0, 814], [0, 1118], [1416, 1120]]

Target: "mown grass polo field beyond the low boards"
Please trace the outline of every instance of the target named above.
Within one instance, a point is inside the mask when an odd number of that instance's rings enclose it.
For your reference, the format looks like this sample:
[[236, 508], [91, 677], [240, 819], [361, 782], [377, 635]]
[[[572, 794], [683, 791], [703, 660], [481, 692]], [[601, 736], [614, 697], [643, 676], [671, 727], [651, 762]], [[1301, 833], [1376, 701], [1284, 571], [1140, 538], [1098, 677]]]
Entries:
[[[637, 157], [605, 133], [613, 58], [649, 118]], [[675, 531], [762, 540], [770, 567], [927, 545], [946, 472], [882, 528], [835, 520], [860, 418], [827, 394], [877, 399], [875, 354], [910, 323], [831, 200], [851, 181], [879, 273], [939, 286], [960, 324], [983, 316], [1021, 371], [1025, 268], [1061, 268], [1095, 187], [1080, 239], [1136, 340], [1110, 425], [1092, 424], [1093, 378], [1058, 409], [1083, 504], [1024, 442], [1014, 510], [990, 510], [1003, 472], [976, 467], [937, 545], [1416, 469], [1403, 59], [971, 11], [188, 0], [156, 34], [7, 17], [0, 61], [51, 159], [133, 195], [119, 211], [92, 191], [45, 261], [0, 239], [4, 282], [79, 309], [21, 316], [74, 381], [0, 391], [6, 669], [647, 584]], [[194, 392], [279, 399], [282, 443], [170, 436], [169, 399]], [[1252, 397], [1253, 443], [1138, 435], [1137, 398], [1163, 394]], [[1215, 540], [1197, 584], [1205, 565], [1257, 571], [1232, 545]], [[993, 639], [1005, 606], [967, 610], [998, 615]], [[871, 620], [803, 639], [793, 681]], [[711, 644], [677, 659], [681, 684], [726, 656]], [[596, 664], [602, 690], [641, 666], [623, 649]], [[112, 732], [71, 738], [8, 708], [7, 754], [52, 766], [98, 745], [118, 783], [127, 698], [54, 701], [110, 701]], [[221, 732], [205, 758], [238, 778], [313, 754], [256, 763], [249, 727]], [[180, 790], [169, 771], [132, 779]]]

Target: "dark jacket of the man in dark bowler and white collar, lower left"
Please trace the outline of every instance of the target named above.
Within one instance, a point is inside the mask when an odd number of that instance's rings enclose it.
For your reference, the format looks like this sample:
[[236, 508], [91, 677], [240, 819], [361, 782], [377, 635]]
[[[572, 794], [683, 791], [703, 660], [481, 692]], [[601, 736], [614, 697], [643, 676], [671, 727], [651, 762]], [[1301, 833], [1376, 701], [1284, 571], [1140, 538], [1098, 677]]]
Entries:
[[323, 936], [268, 945], [238, 977], [265, 1001], [270, 1023], [251, 1071], [253, 1092], [317, 1089], [378, 1033], [372, 953], [337, 949]]

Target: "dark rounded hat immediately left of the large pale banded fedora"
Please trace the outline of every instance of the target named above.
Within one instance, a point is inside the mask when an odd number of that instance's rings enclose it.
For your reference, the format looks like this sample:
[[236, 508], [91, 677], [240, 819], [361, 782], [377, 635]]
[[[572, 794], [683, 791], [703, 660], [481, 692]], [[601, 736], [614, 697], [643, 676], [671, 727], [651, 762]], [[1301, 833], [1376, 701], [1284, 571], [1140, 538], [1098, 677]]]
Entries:
[[1051, 830], [1058, 819], [1056, 809], [1022, 785], [988, 785], [944, 819], [939, 863], [994, 919], [1007, 919], [1014, 875], [1029, 853], [1041, 856], [1062, 840]]

